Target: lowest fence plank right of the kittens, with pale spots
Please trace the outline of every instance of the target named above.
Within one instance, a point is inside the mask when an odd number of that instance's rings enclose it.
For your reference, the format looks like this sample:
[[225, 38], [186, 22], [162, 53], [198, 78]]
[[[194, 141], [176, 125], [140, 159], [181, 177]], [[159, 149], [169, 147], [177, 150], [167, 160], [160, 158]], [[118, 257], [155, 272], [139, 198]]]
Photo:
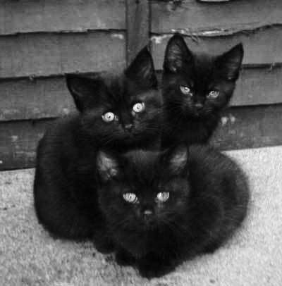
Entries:
[[281, 114], [282, 105], [230, 108], [212, 144], [221, 150], [281, 145]]

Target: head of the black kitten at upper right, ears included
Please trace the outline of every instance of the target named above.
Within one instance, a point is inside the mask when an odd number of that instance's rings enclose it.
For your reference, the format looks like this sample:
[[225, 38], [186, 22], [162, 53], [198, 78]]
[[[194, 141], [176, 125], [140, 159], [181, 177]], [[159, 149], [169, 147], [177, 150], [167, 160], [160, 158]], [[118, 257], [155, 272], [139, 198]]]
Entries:
[[219, 56], [194, 54], [183, 37], [168, 41], [164, 58], [163, 95], [168, 112], [206, 118], [230, 101], [243, 61], [243, 45]]

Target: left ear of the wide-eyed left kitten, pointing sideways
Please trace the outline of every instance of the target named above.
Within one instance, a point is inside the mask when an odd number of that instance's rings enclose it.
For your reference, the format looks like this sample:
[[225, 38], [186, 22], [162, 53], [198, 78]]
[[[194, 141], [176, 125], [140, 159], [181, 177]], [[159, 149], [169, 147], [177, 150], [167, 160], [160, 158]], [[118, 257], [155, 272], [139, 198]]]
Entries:
[[73, 96], [75, 106], [78, 111], [83, 111], [87, 104], [97, 94], [97, 89], [101, 85], [101, 79], [84, 77], [82, 75], [66, 75], [66, 85]]

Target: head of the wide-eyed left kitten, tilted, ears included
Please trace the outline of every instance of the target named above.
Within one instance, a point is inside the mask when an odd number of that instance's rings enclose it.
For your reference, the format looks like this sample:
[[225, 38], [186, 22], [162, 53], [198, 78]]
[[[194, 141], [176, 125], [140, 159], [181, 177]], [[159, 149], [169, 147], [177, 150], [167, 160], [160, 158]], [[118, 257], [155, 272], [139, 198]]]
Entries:
[[142, 144], [159, 133], [161, 95], [145, 47], [121, 75], [67, 75], [82, 130], [103, 146]]

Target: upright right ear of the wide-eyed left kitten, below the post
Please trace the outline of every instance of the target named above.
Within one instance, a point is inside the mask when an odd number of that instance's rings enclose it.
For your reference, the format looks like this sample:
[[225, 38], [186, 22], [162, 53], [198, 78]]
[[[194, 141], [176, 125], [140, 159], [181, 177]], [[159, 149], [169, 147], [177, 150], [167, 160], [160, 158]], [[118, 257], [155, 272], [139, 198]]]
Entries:
[[125, 75], [145, 87], [157, 88], [153, 58], [145, 46], [125, 69]]

